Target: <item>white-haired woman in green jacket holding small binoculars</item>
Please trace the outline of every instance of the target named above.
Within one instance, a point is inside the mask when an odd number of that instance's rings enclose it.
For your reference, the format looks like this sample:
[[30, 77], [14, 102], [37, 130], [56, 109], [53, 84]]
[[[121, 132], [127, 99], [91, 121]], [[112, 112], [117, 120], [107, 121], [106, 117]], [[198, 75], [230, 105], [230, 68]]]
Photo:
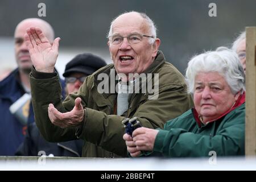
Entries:
[[220, 47], [197, 55], [188, 63], [186, 78], [195, 107], [163, 130], [140, 127], [132, 137], [123, 135], [130, 155], [244, 155], [245, 74], [237, 54]]

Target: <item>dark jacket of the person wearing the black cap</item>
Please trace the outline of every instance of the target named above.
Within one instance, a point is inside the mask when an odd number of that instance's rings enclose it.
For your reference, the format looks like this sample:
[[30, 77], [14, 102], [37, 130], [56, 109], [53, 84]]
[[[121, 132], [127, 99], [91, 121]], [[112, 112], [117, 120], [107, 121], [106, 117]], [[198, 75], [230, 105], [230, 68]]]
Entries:
[[82, 140], [72, 140], [61, 143], [47, 142], [39, 133], [35, 122], [28, 125], [24, 142], [20, 144], [15, 155], [20, 156], [40, 156], [39, 152], [44, 151], [46, 155], [53, 156], [82, 156]]

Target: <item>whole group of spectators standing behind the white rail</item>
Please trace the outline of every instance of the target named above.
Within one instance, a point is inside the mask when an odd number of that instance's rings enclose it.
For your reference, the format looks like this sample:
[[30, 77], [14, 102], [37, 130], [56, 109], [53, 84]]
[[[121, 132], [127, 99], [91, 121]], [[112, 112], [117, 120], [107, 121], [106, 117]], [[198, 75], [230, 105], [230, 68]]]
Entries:
[[[246, 33], [230, 48], [193, 56], [183, 76], [159, 50], [156, 32], [146, 14], [118, 15], [108, 32], [113, 64], [81, 53], [65, 66], [61, 80], [55, 68], [60, 39], [52, 26], [38, 18], [22, 20], [14, 33], [18, 66], [0, 75], [0, 155], [245, 155]], [[99, 93], [112, 72], [117, 91]], [[158, 74], [158, 98], [131, 89], [141, 80], [129, 73]], [[102, 74], [108, 78], [104, 85]], [[134, 117], [141, 127], [127, 133], [123, 123]]]

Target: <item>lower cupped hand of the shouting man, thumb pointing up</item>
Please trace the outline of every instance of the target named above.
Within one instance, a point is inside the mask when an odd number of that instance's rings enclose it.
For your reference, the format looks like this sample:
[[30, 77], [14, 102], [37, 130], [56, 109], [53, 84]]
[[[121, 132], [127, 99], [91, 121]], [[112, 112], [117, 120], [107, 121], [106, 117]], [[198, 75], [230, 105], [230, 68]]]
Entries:
[[58, 111], [53, 104], [49, 104], [48, 116], [53, 125], [59, 126], [63, 129], [69, 126], [80, 125], [85, 117], [84, 108], [81, 104], [81, 98], [76, 98], [74, 108], [67, 113], [60, 113], [60, 111]]

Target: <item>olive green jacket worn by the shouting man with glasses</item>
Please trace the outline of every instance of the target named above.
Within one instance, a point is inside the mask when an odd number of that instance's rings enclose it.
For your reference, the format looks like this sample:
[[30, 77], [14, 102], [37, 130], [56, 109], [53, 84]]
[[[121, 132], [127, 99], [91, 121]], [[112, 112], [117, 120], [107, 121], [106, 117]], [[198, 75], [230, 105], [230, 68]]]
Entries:
[[[193, 105], [183, 76], [172, 64], [165, 61], [163, 53], [159, 51], [154, 62], [145, 71], [145, 73], [159, 74], [158, 98], [149, 100], [148, 93], [132, 93], [129, 96], [129, 109], [121, 116], [115, 115], [117, 93], [99, 93], [97, 90], [101, 82], [97, 80], [98, 75], [105, 73], [110, 77], [111, 69], [114, 69], [113, 64], [86, 77], [79, 91], [76, 94], [69, 94], [64, 102], [60, 99], [61, 89], [58, 78], [56, 76], [35, 78], [39, 77], [39, 72], [32, 69], [30, 75], [32, 104], [36, 125], [44, 138], [51, 142], [73, 140], [77, 137], [84, 139], [86, 143], [82, 156], [86, 157], [127, 156], [126, 144], [122, 139], [125, 130], [121, 121], [124, 118], [136, 116], [144, 127], [163, 127], [166, 121], [184, 113]], [[47, 114], [48, 104], [53, 103], [57, 110], [64, 113], [73, 109], [77, 97], [82, 98], [82, 106], [86, 109], [82, 125], [67, 129], [53, 125]]]

